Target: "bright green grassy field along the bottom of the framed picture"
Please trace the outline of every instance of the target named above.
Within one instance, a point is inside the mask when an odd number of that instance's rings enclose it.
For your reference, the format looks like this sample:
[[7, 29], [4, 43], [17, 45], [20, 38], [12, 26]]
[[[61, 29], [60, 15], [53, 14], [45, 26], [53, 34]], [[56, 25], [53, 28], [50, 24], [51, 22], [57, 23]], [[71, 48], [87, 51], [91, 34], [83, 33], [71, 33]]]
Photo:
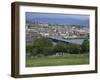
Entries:
[[88, 54], [66, 54], [41, 58], [26, 57], [26, 67], [89, 64]]

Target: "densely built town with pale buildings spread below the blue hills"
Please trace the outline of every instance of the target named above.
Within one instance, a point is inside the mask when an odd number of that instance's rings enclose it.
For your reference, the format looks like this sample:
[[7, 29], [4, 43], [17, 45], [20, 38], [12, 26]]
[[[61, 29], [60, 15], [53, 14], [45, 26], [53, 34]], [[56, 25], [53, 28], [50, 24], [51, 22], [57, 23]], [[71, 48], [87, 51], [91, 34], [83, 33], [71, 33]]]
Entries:
[[[34, 38], [47, 37], [82, 44], [89, 36], [89, 29], [79, 25], [50, 24], [50, 23], [27, 23], [26, 43], [31, 44]], [[69, 40], [70, 39], [70, 40]], [[77, 40], [77, 41], [75, 41]]]

